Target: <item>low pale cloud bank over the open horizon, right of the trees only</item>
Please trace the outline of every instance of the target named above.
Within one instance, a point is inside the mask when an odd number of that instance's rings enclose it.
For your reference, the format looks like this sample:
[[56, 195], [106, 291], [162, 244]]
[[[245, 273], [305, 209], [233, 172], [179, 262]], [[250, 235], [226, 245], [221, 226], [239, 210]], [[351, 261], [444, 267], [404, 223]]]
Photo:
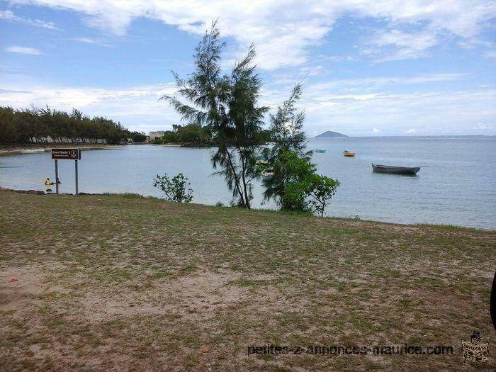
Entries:
[[[381, 128], [381, 135], [413, 134], [411, 129], [417, 135], [467, 135], [476, 134], [474, 121], [492, 123], [496, 118], [494, 87], [439, 90], [436, 86], [437, 90], [426, 90], [426, 86], [412, 84], [407, 92], [397, 93], [382, 86], [382, 81], [374, 87], [363, 79], [362, 85], [352, 81], [357, 93], [349, 94], [349, 81], [342, 83], [318, 84], [318, 89], [317, 84], [305, 86], [299, 106], [305, 108], [305, 128], [310, 132], [332, 129], [347, 135], [370, 135], [368, 128]], [[270, 101], [277, 104], [285, 94], [276, 93], [278, 98]], [[267, 92], [267, 96], [277, 94]]]

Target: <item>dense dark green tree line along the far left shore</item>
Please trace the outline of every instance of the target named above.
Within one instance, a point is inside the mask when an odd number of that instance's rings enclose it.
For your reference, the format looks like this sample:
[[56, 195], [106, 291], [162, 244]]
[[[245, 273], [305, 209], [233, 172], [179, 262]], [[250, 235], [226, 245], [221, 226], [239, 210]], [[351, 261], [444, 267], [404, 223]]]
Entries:
[[0, 107], [0, 143], [118, 143], [123, 138], [138, 137], [120, 123], [101, 116], [90, 118], [73, 108], [70, 113], [52, 108], [29, 108], [15, 110]]

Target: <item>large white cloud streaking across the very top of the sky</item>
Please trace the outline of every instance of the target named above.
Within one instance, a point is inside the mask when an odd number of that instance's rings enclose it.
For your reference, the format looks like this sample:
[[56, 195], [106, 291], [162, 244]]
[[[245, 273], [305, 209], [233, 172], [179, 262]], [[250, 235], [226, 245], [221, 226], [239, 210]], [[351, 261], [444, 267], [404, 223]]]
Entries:
[[378, 60], [422, 56], [429, 47], [455, 36], [477, 40], [496, 17], [492, 0], [370, 1], [363, 0], [253, 0], [227, 1], [115, 1], [115, 0], [10, 0], [79, 11], [84, 22], [116, 35], [124, 35], [135, 18], [146, 17], [201, 35], [212, 19], [219, 19], [222, 35], [237, 41], [233, 52], [257, 45], [261, 68], [298, 66], [310, 60], [309, 49], [321, 45], [336, 21], [343, 17], [373, 18], [385, 23], [363, 50], [385, 48]]

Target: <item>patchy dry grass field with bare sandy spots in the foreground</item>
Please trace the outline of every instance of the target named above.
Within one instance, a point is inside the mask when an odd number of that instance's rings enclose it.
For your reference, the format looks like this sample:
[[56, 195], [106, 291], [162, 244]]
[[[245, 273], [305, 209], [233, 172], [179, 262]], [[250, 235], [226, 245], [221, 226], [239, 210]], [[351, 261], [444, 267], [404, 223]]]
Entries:
[[[0, 247], [1, 371], [496, 366], [495, 232], [0, 191]], [[463, 363], [475, 330], [485, 366]], [[453, 354], [248, 354], [268, 343]]]

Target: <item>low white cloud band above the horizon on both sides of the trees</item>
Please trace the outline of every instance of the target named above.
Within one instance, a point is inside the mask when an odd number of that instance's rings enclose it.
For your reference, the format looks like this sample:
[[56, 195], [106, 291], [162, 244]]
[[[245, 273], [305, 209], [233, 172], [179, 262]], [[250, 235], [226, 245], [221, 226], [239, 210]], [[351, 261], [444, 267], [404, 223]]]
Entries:
[[[421, 81], [425, 77], [412, 78]], [[393, 79], [394, 81], [394, 79]], [[335, 130], [347, 135], [441, 135], [494, 133], [496, 118], [496, 89], [478, 88], [468, 91], [412, 91], [391, 93], [380, 84], [365, 79], [362, 86], [353, 80], [358, 90], [377, 86], [373, 94], [355, 99], [343, 92], [346, 81], [340, 87], [308, 84], [304, 87], [299, 107], [305, 108], [308, 133]], [[413, 83], [410, 89], [417, 86]], [[0, 87], [0, 106], [26, 108], [31, 104], [70, 111], [79, 108], [89, 115], [103, 115], [120, 120], [133, 130], [160, 130], [171, 128], [180, 122], [179, 115], [166, 102], [158, 101], [164, 94], [174, 94], [175, 85], [153, 84], [129, 86], [120, 89], [101, 87], [75, 88], [70, 86], [46, 86], [27, 84], [13, 79], [11, 84]], [[276, 108], [285, 98], [287, 86], [264, 89], [261, 104]], [[480, 123], [475, 125], [473, 123]], [[376, 132], [376, 129], [380, 132]]]

